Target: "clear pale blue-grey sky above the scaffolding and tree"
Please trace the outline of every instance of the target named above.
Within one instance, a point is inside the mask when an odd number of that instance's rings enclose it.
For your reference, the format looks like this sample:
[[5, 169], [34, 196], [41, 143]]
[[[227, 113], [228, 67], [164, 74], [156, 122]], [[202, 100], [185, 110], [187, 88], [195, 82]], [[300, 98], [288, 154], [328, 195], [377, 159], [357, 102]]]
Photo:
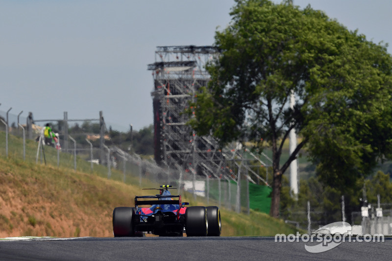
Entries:
[[[279, 3], [280, 0], [274, 1]], [[368, 41], [392, 44], [392, 0], [311, 4]], [[128, 131], [153, 124], [157, 46], [209, 46], [234, 0], [0, 0], [0, 116], [98, 119]], [[388, 47], [389, 53], [392, 47]], [[46, 122], [38, 122], [44, 125]]]

